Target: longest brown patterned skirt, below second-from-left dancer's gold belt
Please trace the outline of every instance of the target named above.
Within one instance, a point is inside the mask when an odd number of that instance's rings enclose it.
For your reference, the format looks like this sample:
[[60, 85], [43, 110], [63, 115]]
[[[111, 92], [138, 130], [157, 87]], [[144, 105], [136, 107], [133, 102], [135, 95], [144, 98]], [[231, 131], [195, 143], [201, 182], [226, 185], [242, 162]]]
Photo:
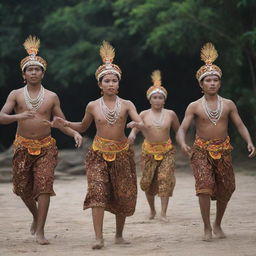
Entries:
[[136, 169], [133, 150], [116, 153], [106, 161], [102, 152], [89, 149], [86, 160], [88, 191], [84, 210], [103, 207], [113, 214], [133, 215], [137, 199]]

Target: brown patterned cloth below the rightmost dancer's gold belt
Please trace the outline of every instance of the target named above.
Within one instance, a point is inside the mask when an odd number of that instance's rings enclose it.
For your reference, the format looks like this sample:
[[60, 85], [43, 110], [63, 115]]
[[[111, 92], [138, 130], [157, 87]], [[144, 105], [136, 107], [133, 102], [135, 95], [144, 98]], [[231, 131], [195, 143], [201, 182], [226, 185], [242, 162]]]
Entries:
[[223, 150], [214, 159], [204, 148], [193, 147], [191, 166], [195, 177], [196, 195], [209, 194], [212, 200], [228, 202], [235, 191], [231, 150]]

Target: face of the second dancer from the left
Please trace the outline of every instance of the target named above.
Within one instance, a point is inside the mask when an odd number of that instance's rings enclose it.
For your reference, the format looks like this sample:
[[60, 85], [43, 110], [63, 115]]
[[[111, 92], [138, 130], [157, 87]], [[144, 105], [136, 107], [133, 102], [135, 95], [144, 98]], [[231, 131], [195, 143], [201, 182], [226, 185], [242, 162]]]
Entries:
[[107, 74], [99, 82], [99, 87], [102, 90], [103, 95], [113, 95], [118, 93], [119, 80], [114, 74]]

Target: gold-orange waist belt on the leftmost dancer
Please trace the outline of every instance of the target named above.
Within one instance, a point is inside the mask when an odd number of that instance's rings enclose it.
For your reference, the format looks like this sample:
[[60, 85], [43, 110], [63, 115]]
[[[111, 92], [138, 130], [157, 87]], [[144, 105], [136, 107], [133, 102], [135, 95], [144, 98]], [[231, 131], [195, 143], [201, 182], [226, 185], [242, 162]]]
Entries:
[[51, 136], [40, 140], [33, 140], [24, 138], [16, 134], [15, 141], [13, 142], [14, 147], [23, 146], [28, 149], [30, 155], [38, 156], [41, 153], [41, 148], [49, 147], [50, 145], [56, 144], [56, 141]]

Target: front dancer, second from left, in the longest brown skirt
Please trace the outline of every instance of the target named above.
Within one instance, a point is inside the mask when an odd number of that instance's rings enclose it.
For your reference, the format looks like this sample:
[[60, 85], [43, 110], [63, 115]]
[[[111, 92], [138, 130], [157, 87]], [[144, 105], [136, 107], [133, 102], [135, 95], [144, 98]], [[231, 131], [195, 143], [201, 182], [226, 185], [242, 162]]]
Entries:
[[92, 249], [104, 246], [105, 210], [116, 216], [115, 243], [127, 243], [123, 239], [123, 228], [126, 216], [135, 211], [137, 197], [134, 154], [124, 133], [128, 115], [133, 120], [128, 128], [143, 126], [133, 103], [117, 96], [121, 70], [112, 63], [114, 49], [104, 41], [100, 54], [105, 64], [95, 75], [103, 96], [87, 105], [82, 122], [56, 118], [52, 124], [53, 127], [69, 126], [78, 132], [86, 131], [92, 121], [96, 124], [96, 136], [86, 155], [88, 191], [84, 201], [84, 209], [92, 208], [96, 237]]

